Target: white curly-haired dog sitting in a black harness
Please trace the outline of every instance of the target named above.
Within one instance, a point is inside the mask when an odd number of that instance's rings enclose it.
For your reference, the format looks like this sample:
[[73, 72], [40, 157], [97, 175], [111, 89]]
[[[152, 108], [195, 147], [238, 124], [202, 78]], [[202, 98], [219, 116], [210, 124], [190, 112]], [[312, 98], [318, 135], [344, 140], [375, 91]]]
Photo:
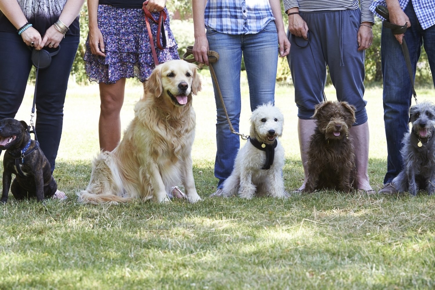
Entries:
[[284, 116], [272, 103], [257, 107], [251, 116], [250, 137], [237, 153], [234, 169], [223, 184], [223, 196], [251, 199], [257, 196], [285, 197], [282, 167]]

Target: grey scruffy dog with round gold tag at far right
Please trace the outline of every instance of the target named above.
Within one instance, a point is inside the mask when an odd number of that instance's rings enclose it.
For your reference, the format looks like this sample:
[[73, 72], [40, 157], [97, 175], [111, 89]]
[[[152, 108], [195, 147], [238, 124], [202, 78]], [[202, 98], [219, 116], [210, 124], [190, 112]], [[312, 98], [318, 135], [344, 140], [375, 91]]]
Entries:
[[425, 101], [409, 110], [411, 133], [402, 140], [403, 169], [391, 182], [397, 192], [416, 195], [425, 189], [435, 191], [435, 106]]

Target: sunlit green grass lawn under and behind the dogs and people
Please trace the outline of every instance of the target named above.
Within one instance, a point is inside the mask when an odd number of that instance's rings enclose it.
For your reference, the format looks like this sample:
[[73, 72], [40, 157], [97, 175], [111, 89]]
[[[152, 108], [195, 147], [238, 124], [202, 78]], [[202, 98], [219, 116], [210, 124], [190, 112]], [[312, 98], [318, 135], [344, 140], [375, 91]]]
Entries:
[[[123, 127], [142, 95], [127, 82]], [[242, 81], [241, 133], [249, 133]], [[417, 91], [432, 99], [433, 89]], [[328, 100], [334, 88], [326, 89]], [[19, 120], [30, 120], [29, 87]], [[386, 170], [382, 90], [366, 91], [369, 176], [378, 190]], [[209, 198], [214, 178], [215, 105], [209, 77], [194, 97], [192, 150], [201, 202], [77, 203], [98, 151], [97, 84], [71, 84], [54, 177], [68, 199], [0, 206], [0, 289], [434, 289], [435, 201], [425, 193], [360, 195], [322, 191], [274, 198]], [[294, 90], [278, 85], [284, 113], [285, 187], [303, 180]], [[242, 141], [242, 144], [244, 141]], [[2, 169], [0, 169], [2, 171]]]

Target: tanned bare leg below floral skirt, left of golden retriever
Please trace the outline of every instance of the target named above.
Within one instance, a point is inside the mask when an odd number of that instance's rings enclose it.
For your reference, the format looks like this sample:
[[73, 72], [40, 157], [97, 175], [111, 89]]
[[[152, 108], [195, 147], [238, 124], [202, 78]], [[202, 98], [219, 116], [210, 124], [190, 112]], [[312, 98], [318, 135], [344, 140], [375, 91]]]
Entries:
[[116, 83], [100, 83], [100, 121], [98, 137], [100, 148], [112, 151], [121, 140], [120, 112], [124, 103], [125, 78]]

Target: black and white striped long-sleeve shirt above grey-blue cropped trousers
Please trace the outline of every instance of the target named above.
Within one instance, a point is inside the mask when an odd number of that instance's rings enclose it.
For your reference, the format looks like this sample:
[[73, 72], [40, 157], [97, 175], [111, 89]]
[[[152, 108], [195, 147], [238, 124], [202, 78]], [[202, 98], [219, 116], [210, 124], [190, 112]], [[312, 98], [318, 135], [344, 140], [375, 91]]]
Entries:
[[370, 5], [373, 0], [283, 0], [284, 9], [298, 7], [301, 12], [358, 9], [361, 2], [361, 22], [375, 22]]

